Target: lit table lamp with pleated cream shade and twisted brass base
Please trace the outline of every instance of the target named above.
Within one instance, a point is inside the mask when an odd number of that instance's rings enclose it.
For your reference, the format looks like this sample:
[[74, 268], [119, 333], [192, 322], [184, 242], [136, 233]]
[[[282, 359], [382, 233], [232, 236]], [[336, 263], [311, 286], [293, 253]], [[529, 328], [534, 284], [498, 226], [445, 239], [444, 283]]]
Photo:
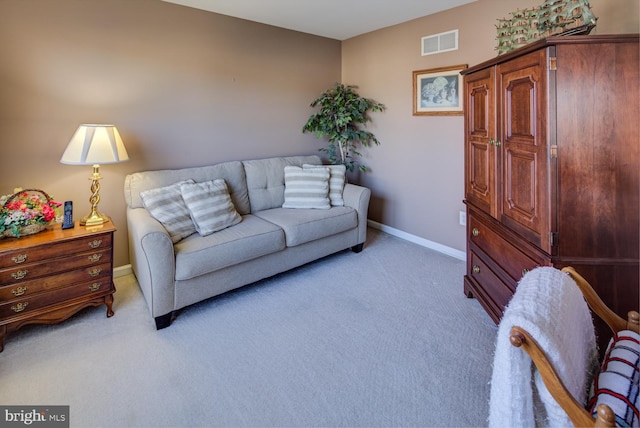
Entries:
[[80, 125], [60, 159], [68, 165], [93, 165], [91, 180], [91, 212], [80, 220], [83, 226], [97, 226], [109, 221], [98, 211], [100, 202], [100, 164], [129, 160], [118, 129], [114, 125]]

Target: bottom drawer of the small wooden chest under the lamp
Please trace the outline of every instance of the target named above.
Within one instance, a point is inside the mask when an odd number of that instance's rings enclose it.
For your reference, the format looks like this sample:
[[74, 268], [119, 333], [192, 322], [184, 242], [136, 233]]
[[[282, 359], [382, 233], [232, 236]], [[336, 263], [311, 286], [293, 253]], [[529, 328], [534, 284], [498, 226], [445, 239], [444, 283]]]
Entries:
[[103, 277], [71, 287], [36, 294], [33, 297], [17, 298], [10, 302], [0, 304], [0, 320], [16, 315], [29, 314], [29, 312], [37, 309], [53, 306], [80, 297], [90, 295], [96, 295], [96, 297], [98, 297], [100, 294], [112, 291], [111, 277]]

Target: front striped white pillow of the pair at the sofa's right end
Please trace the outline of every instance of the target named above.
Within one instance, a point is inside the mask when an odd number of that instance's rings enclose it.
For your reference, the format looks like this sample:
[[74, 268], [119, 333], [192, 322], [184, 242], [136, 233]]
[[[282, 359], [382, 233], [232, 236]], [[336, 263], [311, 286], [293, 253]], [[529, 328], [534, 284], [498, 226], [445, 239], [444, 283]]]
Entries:
[[284, 167], [284, 204], [282, 208], [315, 208], [327, 210], [329, 202], [329, 168], [303, 169]]

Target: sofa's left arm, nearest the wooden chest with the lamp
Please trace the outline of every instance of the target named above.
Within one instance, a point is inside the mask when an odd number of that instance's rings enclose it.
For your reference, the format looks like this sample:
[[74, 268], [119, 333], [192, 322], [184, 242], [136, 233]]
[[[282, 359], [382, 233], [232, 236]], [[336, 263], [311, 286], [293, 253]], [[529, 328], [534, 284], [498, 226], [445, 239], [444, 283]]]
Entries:
[[153, 318], [174, 310], [175, 254], [166, 229], [144, 208], [127, 208], [129, 258]]

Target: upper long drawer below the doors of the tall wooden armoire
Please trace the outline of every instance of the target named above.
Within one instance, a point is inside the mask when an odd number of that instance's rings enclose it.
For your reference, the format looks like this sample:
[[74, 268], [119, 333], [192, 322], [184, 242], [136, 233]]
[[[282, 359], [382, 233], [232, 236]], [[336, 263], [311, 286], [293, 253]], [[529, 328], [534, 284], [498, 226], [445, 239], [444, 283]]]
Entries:
[[499, 255], [500, 268], [513, 279], [514, 283], [529, 270], [545, 264], [544, 257], [540, 256], [536, 260], [536, 254], [523, 253], [481, 218], [471, 214], [469, 225], [470, 242], [485, 254]]

